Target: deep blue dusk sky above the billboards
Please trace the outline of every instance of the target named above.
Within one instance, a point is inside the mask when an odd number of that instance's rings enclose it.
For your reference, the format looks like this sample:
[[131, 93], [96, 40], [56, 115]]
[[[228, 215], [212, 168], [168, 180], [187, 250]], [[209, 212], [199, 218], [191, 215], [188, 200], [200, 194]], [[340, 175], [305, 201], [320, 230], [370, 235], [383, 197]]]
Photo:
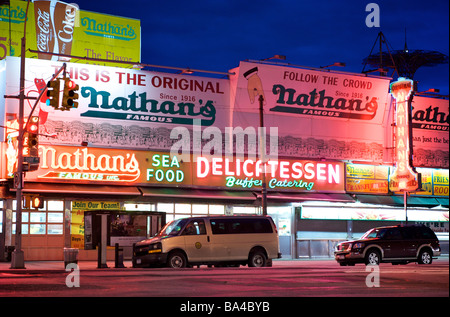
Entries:
[[[227, 72], [240, 61], [279, 54], [286, 56], [284, 63], [320, 67], [344, 62], [346, 67], [332, 69], [360, 73], [380, 31], [390, 49], [401, 50], [405, 29], [410, 50], [449, 55], [447, 0], [74, 2], [81, 10], [141, 20], [141, 62], [147, 64]], [[366, 25], [369, 3], [379, 6], [380, 27]], [[438, 88], [449, 94], [448, 64], [422, 67], [414, 79], [420, 91]]]

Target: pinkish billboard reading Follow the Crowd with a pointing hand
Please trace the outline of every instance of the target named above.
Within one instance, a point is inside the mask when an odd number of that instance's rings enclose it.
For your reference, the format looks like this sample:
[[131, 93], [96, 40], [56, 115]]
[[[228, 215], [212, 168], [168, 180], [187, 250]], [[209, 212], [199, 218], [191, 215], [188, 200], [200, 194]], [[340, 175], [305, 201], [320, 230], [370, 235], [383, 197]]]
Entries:
[[389, 78], [241, 62], [233, 70], [233, 125], [278, 127], [279, 155], [387, 160]]

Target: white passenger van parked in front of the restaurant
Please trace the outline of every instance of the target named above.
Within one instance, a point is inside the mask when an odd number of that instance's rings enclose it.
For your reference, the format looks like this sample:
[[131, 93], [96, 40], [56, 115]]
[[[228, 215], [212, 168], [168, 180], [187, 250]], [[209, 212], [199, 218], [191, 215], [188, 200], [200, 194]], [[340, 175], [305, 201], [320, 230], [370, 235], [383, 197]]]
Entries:
[[133, 267], [263, 267], [280, 257], [278, 232], [269, 216], [195, 217], [174, 220], [155, 237], [136, 243]]

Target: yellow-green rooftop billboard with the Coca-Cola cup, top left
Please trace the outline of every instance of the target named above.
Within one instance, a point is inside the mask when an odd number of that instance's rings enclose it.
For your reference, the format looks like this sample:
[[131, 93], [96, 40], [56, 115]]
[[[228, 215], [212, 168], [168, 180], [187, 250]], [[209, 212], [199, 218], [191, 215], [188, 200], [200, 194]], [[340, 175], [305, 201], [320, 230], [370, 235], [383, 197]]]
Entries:
[[[20, 56], [27, 2], [0, 6], [0, 59]], [[26, 24], [27, 58], [61, 60], [45, 52], [115, 61], [141, 61], [140, 21], [84, 11], [75, 3], [30, 2]], [[70, 59], [72, 62], [120, 66], [118, 63]]]

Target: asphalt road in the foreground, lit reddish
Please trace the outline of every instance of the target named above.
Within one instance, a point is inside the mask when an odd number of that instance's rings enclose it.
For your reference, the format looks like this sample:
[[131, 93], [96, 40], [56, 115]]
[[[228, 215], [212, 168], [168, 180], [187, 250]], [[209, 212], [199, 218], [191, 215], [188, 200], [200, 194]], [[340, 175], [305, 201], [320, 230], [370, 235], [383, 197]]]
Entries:
[[335, 261], [274, 261], [271, 268], [79, 267], [73, 272], [0, 270], [0, 298], [449, 296], [448, 258], [431, 265], [381, 264], [377, 269], [365, 265], [341, 267]]

